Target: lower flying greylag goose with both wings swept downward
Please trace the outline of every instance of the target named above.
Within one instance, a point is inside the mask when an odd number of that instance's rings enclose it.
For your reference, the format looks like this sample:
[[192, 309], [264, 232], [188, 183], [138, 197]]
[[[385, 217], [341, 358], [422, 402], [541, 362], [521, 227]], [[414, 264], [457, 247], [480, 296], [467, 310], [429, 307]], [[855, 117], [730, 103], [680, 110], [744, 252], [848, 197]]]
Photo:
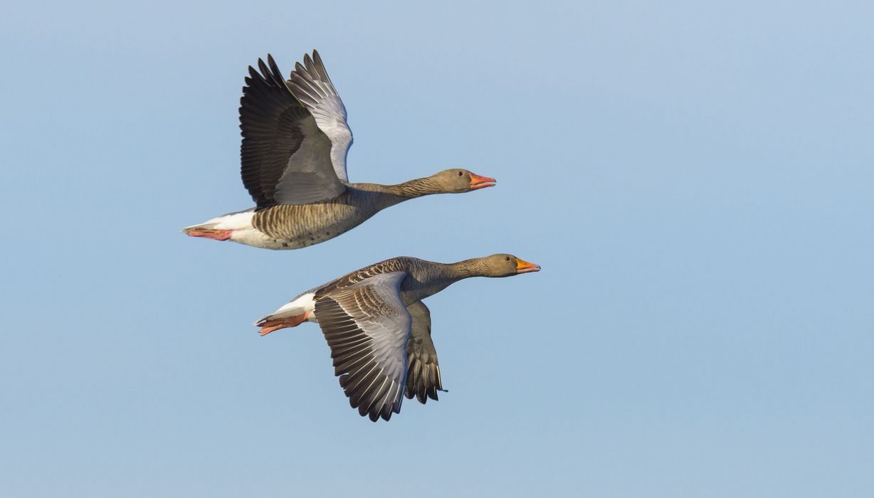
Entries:
[[260, 334], [316, 322], [352, 408], [376, 422], [400, 412], [403, 397], [437, 399], [442, 391], [431, 314], [423, 299], [468, 277], [509, 277], [540, 266], [510, 254], [435, 263], [386, 259], [295, 297], [255, 325]]

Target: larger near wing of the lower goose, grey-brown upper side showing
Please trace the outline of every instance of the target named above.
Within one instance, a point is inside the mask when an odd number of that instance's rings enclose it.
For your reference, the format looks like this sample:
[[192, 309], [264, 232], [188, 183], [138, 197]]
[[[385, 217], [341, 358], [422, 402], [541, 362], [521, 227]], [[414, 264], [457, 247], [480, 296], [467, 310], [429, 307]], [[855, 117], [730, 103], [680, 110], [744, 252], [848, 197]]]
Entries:
[[400, 299], [406, 272], [374, 275], [316, 301], [334, 375], [352, 408], [374, 422], [400, 412], [412, 318]]

